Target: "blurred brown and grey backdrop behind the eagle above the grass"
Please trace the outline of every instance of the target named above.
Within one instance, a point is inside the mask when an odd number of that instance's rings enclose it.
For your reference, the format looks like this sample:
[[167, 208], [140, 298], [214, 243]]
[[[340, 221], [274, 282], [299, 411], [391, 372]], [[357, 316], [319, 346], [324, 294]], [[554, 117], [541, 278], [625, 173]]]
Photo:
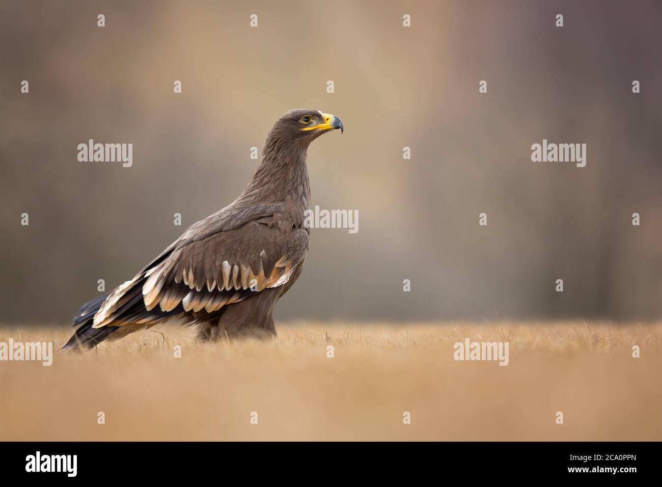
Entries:
[[[132, 278], [239, 195], [250, 147], [295, 108], [344, 121], [308, 151], [312, 205], [357, 209], [359, 232], [312, 231], [277, 320], [659, 319], [661, 16], [655, 1], [2, 0], [2, 319], [64, 323], [97, 280]], [[132, 143], [133, 166], [78, 162], [90, 138]], [[587, 166], [532, 162], [544, 138], [587, 144]]]

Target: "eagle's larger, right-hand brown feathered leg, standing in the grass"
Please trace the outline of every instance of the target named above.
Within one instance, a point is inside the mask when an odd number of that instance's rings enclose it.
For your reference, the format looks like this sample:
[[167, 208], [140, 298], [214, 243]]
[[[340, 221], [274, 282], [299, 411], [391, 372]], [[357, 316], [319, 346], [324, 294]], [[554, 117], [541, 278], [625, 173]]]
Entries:
[[276, 336], [273, 307], [280, 297], [278, 288], [265, 289], [244, 301], [228, 305], [218, 320], [220, 339], [257, 338]]

